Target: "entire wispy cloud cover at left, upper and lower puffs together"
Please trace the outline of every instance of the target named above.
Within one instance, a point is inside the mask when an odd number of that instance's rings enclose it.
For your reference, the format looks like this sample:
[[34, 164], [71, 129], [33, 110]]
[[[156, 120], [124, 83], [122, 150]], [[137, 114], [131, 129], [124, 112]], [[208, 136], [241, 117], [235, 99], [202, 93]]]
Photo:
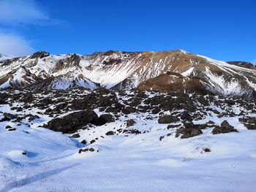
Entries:
[[20, 36], [23, 26], [60, 24], [39, 7], [36, 0], [0, 0], [0, 53], [27, 55], [34, 51], [31, 40]]

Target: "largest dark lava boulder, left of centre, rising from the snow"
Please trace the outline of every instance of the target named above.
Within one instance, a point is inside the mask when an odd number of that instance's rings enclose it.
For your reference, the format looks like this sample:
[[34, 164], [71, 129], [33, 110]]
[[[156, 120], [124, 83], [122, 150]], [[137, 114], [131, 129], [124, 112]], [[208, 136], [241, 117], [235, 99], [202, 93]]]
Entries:
[[98, 116], [92, 110], [83, 110], [80, 112], [73, 112], [63, 118], [54, 118], [50, 120], [45, 128], [50, 128], [53, 131], [61, 131], [63, 133], [70, 133], [77, 131], [82, 126], [88, 123], [97, 124]]

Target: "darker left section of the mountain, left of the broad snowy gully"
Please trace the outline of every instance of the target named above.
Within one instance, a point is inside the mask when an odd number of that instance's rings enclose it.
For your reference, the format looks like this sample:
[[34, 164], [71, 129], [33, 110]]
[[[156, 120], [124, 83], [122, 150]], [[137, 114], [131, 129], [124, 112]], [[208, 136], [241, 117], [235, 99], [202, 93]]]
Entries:
[[50, 55], [39, 52], [23, 58], [0, 61], [1, 88], [97, 88], [83, 76], [75, 54]]

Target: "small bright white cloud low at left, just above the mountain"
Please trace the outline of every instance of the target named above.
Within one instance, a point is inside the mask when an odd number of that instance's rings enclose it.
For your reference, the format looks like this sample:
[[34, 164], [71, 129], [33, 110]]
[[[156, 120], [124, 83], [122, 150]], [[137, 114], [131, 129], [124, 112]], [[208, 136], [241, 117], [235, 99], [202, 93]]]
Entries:
[[13, 56], [29, 55], [34, 52], [29, 41], [15, 34], [0, 34], [0, 53]]

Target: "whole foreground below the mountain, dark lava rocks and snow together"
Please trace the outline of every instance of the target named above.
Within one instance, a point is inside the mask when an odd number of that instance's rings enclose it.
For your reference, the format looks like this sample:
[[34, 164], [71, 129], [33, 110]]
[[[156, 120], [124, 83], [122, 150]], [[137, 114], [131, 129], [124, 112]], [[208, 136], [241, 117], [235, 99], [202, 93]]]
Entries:
[[255, 99], [1, 91], [0, 191], [253, 191], [255, 123]]

